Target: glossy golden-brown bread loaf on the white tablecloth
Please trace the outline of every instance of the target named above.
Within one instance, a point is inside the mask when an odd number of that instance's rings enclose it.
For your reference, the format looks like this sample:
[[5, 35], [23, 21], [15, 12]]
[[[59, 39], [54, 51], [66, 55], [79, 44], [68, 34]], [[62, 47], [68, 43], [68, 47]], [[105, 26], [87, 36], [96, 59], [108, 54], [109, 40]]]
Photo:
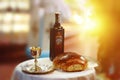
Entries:
[[65, 52], [54, 58], [53, 65], [55, 69], [67, 72], [82, 71], [87, 67], [87, 60], [75, 52]]

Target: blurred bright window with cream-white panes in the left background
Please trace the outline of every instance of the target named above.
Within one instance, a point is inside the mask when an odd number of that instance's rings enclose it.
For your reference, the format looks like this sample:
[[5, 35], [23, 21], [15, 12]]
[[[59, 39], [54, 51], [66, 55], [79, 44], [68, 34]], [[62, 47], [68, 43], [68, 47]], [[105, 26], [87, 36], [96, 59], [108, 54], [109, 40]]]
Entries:
[[24, 41], [30, 26], [29, 12], [30, 0], [0, 0], [0, 38], [10, 40], [7, 42]]

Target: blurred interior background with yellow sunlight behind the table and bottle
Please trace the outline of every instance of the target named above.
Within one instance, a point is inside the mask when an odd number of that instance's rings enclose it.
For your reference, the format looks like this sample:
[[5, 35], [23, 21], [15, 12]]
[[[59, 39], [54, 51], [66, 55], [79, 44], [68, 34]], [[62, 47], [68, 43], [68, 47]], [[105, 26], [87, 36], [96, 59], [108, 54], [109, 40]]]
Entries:
[[49, 29], [54, 13], [60, 12], [65, 51], [97, 60], [100, 80], [119, 80], [119, 4], [119, 0], [0, 0], [0, 79], [10, 80], [15, 66], [30, 59], [29, 46], [49, 51]]

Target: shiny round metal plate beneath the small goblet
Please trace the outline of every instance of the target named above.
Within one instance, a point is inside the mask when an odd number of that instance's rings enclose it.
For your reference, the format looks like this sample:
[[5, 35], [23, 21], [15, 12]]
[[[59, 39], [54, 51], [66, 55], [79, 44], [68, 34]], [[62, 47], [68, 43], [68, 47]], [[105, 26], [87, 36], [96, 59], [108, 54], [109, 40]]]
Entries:
[[39, 71], [33, 70], [33, 66], [34, 64], [25, 64], [24, 66], [22, 66], [22, 71], [29, 74], [46, 74], [54, 71], [54, 67], [52, 64], [38, 65], [41, 68], [41, 70]]

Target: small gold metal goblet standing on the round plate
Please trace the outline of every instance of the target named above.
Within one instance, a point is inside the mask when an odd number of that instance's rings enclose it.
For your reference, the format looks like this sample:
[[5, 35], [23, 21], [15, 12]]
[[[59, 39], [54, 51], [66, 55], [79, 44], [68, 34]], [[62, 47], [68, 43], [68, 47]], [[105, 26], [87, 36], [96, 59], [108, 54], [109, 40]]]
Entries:
[[31, 71], [39, 72], [41, 71], [40, 66], [38, 66], [37, 58], [41, 55], [41, 48], [40, 47], [30, 47], [30, 52], [34, 60], [34, 66], [31, 68]]

